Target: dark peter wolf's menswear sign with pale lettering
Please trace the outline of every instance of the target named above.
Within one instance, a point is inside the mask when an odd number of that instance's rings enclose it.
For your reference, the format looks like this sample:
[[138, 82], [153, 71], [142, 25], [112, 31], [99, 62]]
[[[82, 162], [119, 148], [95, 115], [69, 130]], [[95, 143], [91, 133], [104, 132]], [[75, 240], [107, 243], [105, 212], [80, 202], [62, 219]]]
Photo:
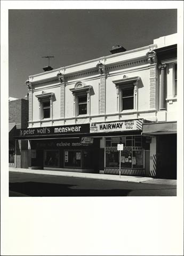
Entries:
[[31, 137], [38, 135], [54, 135], [54, 134], [75, 134], [75, 133], [89, 133], [89, 124], [75, 124], [75, 125], [63, 125], [63, 126], [49, 126], [19, 129], [19, 137]]

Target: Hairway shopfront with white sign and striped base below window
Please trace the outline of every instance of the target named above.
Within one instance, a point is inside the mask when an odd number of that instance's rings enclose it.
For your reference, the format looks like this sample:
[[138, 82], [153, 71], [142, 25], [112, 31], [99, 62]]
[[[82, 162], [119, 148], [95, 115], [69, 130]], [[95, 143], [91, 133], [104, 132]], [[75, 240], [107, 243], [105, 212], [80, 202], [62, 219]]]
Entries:
[[117, 144], [122, 143], [121, 174], [145, 175], [145, 141], [141, 136], [142, 123], [143, 119], [133, 119], [91, 124], [90, 132], [101, 133], [105, 138], [105, 173], [119, 174]]

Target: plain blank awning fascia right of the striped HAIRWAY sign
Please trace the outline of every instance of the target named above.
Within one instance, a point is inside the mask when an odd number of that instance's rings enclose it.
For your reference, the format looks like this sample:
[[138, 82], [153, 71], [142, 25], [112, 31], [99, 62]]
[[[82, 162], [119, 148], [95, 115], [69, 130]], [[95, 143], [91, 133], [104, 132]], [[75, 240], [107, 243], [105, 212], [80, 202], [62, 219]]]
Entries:
[[177, 133], [177, 122], [157, 122], [142, 124], [142, 135]]

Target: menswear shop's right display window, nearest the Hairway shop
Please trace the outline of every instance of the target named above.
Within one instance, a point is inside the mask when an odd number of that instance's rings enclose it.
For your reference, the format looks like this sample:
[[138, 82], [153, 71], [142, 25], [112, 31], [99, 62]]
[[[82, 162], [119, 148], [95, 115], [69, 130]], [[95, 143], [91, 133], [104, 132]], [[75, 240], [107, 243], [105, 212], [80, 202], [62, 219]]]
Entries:
[[65, 151], [65, 167], [81, 167], [81, 151]]

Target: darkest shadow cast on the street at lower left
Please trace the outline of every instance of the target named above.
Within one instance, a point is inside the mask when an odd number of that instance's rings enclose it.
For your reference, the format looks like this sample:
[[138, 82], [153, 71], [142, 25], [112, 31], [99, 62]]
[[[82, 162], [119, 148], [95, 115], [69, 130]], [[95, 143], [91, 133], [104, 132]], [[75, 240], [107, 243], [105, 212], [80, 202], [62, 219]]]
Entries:
[[130, 189], [72, 189], [70, 184], [42, 182], [9, 183], [9, 196], [127, 196]]

